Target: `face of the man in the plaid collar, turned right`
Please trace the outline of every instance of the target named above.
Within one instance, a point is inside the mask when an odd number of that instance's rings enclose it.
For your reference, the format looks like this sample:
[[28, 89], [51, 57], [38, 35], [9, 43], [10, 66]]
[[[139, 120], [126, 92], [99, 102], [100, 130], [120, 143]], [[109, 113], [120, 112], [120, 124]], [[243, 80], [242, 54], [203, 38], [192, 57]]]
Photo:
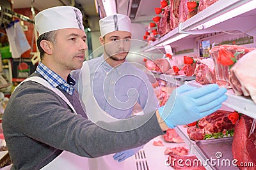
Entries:
[[87, 48], [86, 34], [83, 30], [60, 29], [53, 44], [52, 60], [60, 70], [80, 69]]

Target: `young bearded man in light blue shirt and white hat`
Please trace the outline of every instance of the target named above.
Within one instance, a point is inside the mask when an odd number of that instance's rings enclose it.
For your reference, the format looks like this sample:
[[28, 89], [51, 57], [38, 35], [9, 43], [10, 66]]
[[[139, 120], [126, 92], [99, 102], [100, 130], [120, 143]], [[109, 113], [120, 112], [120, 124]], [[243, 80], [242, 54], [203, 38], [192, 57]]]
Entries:
[[[93, 97], [100, 108], [114, 118], [132, 117], [135, 104], [140, 105], [143, 113], [154, 113], [158, 108], [158, 101], [147, 75], [126, 60], [131, 43], [136, 43], [131, 39], [130, 18], [116, 13], [100, 19], [99, 25], [99, 39], [104, 53], [87, 62]], [[76, 78], [75, 75], [78, 73], [74, 74]], [[87, 88], [83, 87], [83, 83], [81, 85], [79, 89]], [[114, 157], [120, 162], [141, 148], [142, 146], [116, 153]], [[102, 160], [100, 164], [104, 166]]]

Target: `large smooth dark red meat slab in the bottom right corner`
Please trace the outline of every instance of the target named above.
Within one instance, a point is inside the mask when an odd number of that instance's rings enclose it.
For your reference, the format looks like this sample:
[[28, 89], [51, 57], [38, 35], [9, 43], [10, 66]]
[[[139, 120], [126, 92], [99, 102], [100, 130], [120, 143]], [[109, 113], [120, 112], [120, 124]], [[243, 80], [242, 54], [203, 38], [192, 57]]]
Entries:
[[[237, 165], [240, 165], [241, 162], [253, 162], [253, 165], [256, 165], [256, 133], [254, 132], [248, 138], [252, 122], [253, 118], [242, 115], [236, 123], [232, 142], [232, 155], [234, 159], [238, 160]], [[255, 167], [239, 167], [239, 169], [255, 170]]]

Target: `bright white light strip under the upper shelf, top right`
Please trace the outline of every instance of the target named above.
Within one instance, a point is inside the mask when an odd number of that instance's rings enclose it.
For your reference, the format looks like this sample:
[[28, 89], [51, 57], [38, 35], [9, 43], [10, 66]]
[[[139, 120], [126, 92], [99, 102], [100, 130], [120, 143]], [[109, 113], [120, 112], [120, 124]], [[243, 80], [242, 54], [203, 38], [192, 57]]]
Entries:
[[248, 11], [254, 10], [255, 6], [256, 6], [256, 1], [250, 1], [246, 4], [243, 4], [243, 5], [235, 8], [234, 10], [227, 11], [227, 13], [223, 13], [223, 15], [213, 18], [212, 20], [209, 20], [209, 21], [205, 22], [204, 24], [198, 25], [198, 26], [192, 28], [191, 30], [207, 29], [207, 28], [211, 27], [212, 25], [219, 24], [225, 20], [228, 20], [230, 18], [241, 15], [242, 13], [246, 13]]

